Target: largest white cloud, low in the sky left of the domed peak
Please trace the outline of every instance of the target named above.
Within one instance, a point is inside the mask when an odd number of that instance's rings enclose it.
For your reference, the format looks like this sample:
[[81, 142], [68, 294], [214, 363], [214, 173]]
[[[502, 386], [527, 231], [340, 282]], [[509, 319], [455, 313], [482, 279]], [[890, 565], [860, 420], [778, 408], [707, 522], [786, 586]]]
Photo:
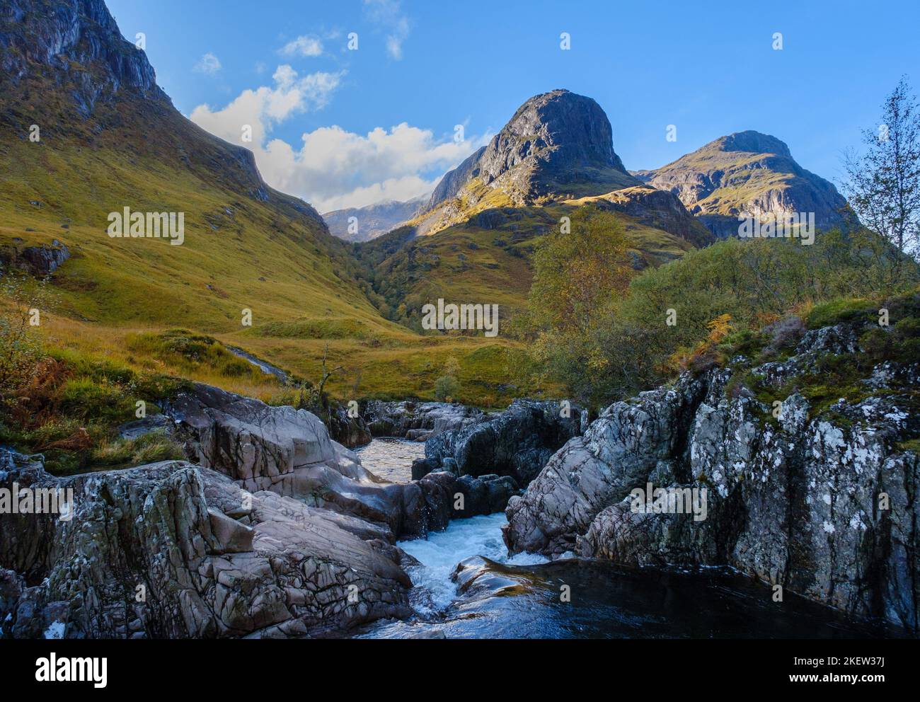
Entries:
[[[406, 122], [366, 134], [339, 126], [301, 135], [300, 144], [271, 138], [282, 121], [298, 112], [319, 109], [339, 86], [341, 74], [299, 77], [288, 65], [278, 67], [274, 86], [245, 90], [224, 109], [200, 105], [191, 120], [232, 144], [250, 148], [262, 177], [272, 186], [310, 202], [320, 212], [362, 207], [376, 201], [409, 200], [433, 190], [448, 168], [456, 166], [489, 135], [459, 144], [453, 133], [438, 138], [431, 130]], [[243, 125], [253, 140], [243, 143]]]

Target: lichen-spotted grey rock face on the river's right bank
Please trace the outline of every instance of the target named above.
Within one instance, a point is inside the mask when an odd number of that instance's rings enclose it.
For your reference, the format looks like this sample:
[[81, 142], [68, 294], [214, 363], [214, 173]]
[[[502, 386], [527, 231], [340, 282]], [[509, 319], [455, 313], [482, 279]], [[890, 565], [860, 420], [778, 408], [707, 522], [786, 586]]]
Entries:
[[[611, 405], [512, 498], [509, 547], [638, 566], [729, 565], [916, 629], [920, 364], [870, 365], [859, 381], [865, 397], [827, 409], [796, 389], [822, 363], [859, 358], [861, 331], [811, 331], [787, 360], [751, 369], [746, 377], [781, 400], [777, 420], [732, 381], [750, 366], [743, 357]], [[706, 489], [706, 518], [638, 511], [630, 492], [648, 483]]]

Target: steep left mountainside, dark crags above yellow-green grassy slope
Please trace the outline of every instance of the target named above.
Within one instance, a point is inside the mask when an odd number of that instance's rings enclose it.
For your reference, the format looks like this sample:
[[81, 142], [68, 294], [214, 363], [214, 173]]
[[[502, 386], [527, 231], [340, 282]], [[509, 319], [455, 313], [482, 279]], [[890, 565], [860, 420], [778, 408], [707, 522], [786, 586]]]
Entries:
[[[243, 308], [255, 325], [303, 314], [306, 297], [317, 316], [379, 326], [339, 279], [345, 249], [316, 211], [183, 118], [100, 0], [16, 0], [0, 23], [0, 245], [63, 242], [73, 258], [55, 284], [70, 312], [218, 331]], [[184, 243], [107, 236], [125, 207], [184, 213]]]

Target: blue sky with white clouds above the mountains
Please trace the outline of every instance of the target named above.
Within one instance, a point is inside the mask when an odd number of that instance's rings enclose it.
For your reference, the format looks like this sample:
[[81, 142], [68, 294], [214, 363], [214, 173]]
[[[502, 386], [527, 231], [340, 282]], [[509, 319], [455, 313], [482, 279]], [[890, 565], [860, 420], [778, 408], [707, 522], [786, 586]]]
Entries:
[[920, 88], [915, 0], [107, 2], [183, 114], [237, 144], [248, 124], [265, 178], [320, 211], [431, 190], [557, 87], [600, 103], [627, 168], [753, 129], [831, 180], [900, 75]]

